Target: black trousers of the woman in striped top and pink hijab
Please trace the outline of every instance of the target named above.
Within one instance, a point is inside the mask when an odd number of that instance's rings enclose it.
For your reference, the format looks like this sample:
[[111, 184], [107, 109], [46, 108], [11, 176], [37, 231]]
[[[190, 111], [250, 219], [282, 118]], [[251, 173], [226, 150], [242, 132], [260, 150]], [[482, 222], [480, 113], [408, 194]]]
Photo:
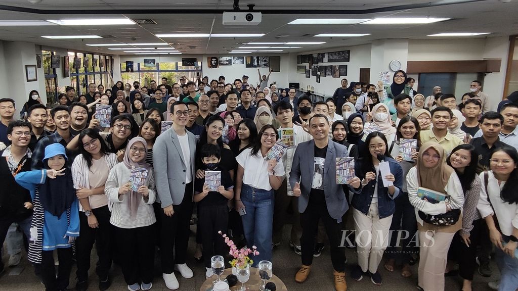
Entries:
[[119, 257], [126, 284], [149, 284], [155, 259], [154, 224], [136, 228], [116, 227]]

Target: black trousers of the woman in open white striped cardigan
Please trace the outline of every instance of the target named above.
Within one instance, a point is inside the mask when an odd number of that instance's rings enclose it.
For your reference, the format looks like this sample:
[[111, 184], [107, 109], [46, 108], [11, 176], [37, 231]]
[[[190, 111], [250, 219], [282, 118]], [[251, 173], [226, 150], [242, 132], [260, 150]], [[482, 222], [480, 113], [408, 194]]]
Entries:
[[98, 228], [91, 228], [88, 225], [88, 217], [84, 212], [79, 212], [79, 237], [76, 240], [76, 259], [77, 259], [77, 280], [79, 282], [88, 280], [88, 270], [90, 269], [90, 254], [95, 242], [95, 249], [99, 257], [95, 273], [100, 279], [104, 280], [108, 276], [111, 268], [111, 235], [112, 225], [110, 224], [111, 212], [108, 206], [92, 209], [93, 215], [99, 223]]

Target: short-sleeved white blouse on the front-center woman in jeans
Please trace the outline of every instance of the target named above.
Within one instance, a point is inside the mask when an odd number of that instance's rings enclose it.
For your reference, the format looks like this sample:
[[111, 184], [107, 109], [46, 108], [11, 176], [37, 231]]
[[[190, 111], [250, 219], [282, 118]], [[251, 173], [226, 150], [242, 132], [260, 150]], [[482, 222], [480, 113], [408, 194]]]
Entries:
[[[268, 159], [263, 157], [261, 151], [256, 155], [251, 155], [251, 152], [252, 149], [246, 149], [236, 157], [237, 163], [244, 169], [243, 184], [269, 191], [271, 185], [268, 177]], [[277, 162], [274, 172], [277, 177], [285, 175], [282, 159]]]

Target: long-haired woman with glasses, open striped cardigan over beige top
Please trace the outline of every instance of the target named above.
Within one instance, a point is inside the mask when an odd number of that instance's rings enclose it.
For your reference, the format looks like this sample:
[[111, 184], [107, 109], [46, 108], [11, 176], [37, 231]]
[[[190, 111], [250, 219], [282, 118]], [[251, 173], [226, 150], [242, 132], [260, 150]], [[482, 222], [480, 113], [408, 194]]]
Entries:
[[110, 207], [104, 186], [111, 168], [117, 164], [117, 155], [106, 150], [95, 129], [85, 129], [79, 135], [79, 151], [72, 164], [72, 179], [79, 199], [79, 237], [76, 240], [77, 290], [88, 288], [88, 270], [92, 246], [96, 246], [98, 264], [96, 273], [99, 286], [110, 286], [108, 272], [111, 268]]

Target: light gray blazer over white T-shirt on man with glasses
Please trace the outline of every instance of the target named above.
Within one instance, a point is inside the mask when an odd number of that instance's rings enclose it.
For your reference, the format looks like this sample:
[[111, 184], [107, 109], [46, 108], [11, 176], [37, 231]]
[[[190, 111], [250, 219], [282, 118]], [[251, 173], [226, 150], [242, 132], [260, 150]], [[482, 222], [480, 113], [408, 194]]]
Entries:
[[[194, 176], [194, 154], [196, 152], [196, 137], [185, 131], [189, 138], [191, 152], [191, 168], [187, 169], [183, 160], [182, 148], [178, 135], [174, 128], [169, 128], [158, 138], [153, 145], [153, 168], [155, 174], [155, 186], [157, 201], [162, 203], [162, 208], [169, 205], [179, 205], [185, 192], [186, 171], [191, 171]], [[191, 193], [191, 196], [194, 192]], [[191, 197], [192, 199], [192, 197]]]

